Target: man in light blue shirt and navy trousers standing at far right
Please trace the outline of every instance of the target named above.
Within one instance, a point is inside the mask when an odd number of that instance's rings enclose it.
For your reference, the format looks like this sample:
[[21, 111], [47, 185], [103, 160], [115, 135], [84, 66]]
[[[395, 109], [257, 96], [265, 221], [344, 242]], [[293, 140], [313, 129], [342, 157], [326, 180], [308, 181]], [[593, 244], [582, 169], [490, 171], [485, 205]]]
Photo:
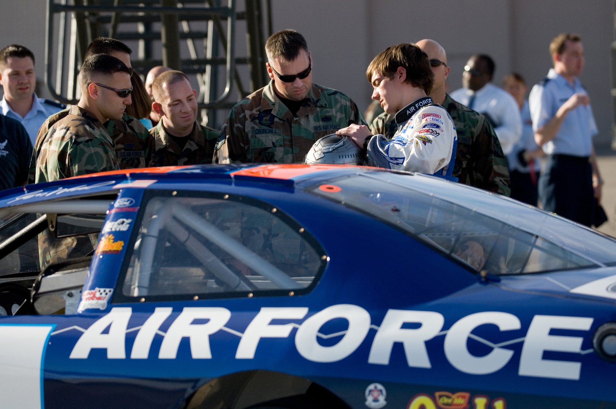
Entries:
[[597, 125], [577, 78], [584, 68], [584, 49], [580, 36], [559, 34], [549, 51], [554, 68], [529, 96], [535, 142], [548, 155], [539, 197], [547, 211], [590, 226], [603, 180], [592, 140]]

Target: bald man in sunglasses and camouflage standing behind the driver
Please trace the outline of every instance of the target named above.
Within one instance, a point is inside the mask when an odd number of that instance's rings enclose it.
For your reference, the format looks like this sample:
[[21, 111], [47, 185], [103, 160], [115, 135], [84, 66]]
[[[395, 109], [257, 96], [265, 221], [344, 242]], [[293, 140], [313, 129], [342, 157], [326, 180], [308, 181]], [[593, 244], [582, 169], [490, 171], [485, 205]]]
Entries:
[[[458, 134], [452, 176], [458, 177], [460, 183], [509, 196], [507, 161], [494, 129], [484, 115], [456, 102], [447, 94], [449, 67], [443, 47], [431, 39], [423, 39], [416, 44], [428, 54], [434, 73], [430, 96], [447, 110]], [[387, 113], [377, 116], [370, 125], [373, 134], [383, 134], [388, 138], [394, 136], [396, 128], [394, 115]]]

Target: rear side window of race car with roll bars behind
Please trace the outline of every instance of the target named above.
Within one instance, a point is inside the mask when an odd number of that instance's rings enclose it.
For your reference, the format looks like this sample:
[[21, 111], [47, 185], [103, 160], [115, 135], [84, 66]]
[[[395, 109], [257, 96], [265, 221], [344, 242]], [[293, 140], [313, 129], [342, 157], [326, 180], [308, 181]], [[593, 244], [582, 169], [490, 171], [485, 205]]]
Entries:
[[190, 196], [197, 194], [147, 201], [119, 301], [312, 290], [326, 256], [305, 229], [269, 204], [229, 195]]

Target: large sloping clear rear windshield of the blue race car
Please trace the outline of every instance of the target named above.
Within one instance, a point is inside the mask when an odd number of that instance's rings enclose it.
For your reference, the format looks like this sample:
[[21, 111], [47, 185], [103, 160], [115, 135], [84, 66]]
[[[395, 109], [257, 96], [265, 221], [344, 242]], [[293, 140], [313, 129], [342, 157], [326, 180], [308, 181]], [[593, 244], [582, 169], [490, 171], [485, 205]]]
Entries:
[[[414, 190], [411, 177], [391, 172], [363, 173], [320, 182], [308, 192], [402, 229], [477, 271], [507, 275], [598, 266], [590, 257], [540, 235]], [[570, 225], [570, 229], [580, 228]], [[600, 235], [596, 238], [609, 241]], [[384, 245], [395, 247], [395, 243]], [[610, 246], [616, 249], [614, 241]]]

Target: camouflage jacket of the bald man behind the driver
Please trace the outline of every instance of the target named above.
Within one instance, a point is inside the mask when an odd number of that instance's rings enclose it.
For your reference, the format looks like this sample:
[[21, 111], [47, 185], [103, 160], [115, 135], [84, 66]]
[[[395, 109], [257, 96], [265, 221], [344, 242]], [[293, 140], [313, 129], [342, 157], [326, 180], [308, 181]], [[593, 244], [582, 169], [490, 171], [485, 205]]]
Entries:
[[[509, 196], [509, 169], [503, 149], [485, 116], [453, 100], [448, 94], [442, 104], [451, 115], [458, 134], [458, 150], [453, 168], [460, 183]], [[382, 113], [370, 124], [373, 134], [394, 136], [394, 115]]]

